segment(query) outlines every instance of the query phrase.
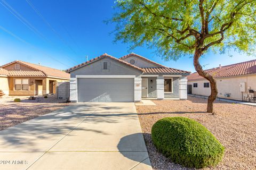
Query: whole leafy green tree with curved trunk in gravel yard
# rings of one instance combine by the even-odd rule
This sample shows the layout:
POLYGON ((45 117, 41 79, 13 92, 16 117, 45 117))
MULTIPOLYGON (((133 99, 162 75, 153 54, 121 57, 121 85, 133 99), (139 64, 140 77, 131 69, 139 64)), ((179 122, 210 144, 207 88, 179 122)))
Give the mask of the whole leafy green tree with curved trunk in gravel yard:
POLYGON ((199 58, 233 48, 247 55, 256 41, 256 0, 118 0, 111 22, 115 40, 147 45, 165 60, 194 54, 194 67, 210 81, 207 112, 213 113, 217 84, 199 58))

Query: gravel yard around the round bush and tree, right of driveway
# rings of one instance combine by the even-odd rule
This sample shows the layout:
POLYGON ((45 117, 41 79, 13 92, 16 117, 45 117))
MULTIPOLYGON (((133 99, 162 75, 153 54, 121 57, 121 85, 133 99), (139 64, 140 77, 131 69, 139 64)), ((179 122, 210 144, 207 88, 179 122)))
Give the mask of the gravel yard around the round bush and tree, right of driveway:
POLYGON ((151 141, 151 127, 161 118, 183 116, 203 124, 225 146, 217 167, 204 169, 256 169, 256 107, 216 101, 215 114, 205 113, 206 99, 152 100, 157 106, 136 106, 153 169, 188 169, 159 153, 151 141))

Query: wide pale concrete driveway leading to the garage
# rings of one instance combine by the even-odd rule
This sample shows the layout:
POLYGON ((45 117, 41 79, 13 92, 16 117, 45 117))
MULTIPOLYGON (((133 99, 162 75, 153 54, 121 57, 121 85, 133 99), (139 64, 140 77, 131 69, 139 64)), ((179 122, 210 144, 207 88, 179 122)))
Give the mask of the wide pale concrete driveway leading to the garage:
POLYGON ((134 103, 78 103, 0 132, 0 169, 152 169, 134 103))

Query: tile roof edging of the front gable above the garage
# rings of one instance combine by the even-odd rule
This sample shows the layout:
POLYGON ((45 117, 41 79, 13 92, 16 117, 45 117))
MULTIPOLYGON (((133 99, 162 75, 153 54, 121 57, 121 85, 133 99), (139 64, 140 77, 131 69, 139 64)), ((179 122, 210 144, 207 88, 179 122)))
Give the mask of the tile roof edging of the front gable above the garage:
POLYGON ((75 69, 78 69, 78 68, 81 67, 81 66, 90 64, 90 63, 92 63, 92 62, 95 62, 95 61, 100 60, 101 58, 105 58, 105 57, 111 58, 111 59, 113 59, 113 60, 115 60, 115 61, 117 61, 117 62, 126 64, 126 65, 129 65, 129 66, 133 67, 134 69, 143 71, 143 69, 141 69, 140 67, 137 67, 137 66, 135 66, 135 65, 132 65, 132 64, 130 64, 130 63, 127 63, 127 62, 125 62, 125 61, 123 61, 123 60, 119 60, 118 58, 113 57, 113 56, 108 55, 108 54, 105 53, 105 54, 102 54, 102 55, 99 56, 99 57, 93 58, 92 60, 89 60, 89 61, 87 61, 87 62, 78 64, 78 65, 76 65, 76 66, 74 66, 74 67, 71 67, 70 69, 67 69, 66 72, 70 73, 71 71, 73 71, 73 70, 75 70, 75 69))

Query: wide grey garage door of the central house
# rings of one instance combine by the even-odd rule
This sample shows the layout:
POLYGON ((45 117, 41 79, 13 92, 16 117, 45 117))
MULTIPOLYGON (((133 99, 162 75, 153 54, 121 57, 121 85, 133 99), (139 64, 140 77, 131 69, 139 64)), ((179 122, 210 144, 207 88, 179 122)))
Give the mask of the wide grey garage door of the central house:
POLYGON ((134 79, 78 78, 78 102, 134 101, 134 79))

